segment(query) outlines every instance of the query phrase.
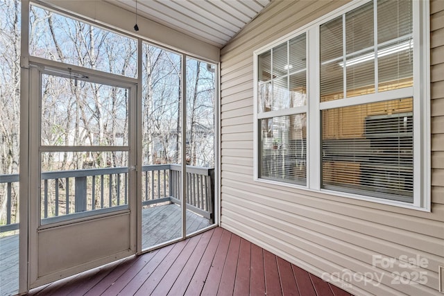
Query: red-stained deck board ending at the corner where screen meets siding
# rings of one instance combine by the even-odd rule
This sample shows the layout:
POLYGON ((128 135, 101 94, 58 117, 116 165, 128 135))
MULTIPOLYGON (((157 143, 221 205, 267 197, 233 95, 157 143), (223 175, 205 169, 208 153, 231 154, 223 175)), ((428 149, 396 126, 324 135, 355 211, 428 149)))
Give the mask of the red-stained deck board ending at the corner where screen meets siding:
POLYGON ((189 286, 185 291, 185 295, 200 295, 203 285, 205 284, 205 279, 207 279, 208 271, 210 270, 214 255, 216 254, 217 246, 219 245, 219 241, 221 241, 222 233, 223 229, 220 227, 214 230, 210 243, 208 243, 207 250, 205 250, 196 272, 194 272, 193 277, 191 277, 191 281, 189 282, 189 286))

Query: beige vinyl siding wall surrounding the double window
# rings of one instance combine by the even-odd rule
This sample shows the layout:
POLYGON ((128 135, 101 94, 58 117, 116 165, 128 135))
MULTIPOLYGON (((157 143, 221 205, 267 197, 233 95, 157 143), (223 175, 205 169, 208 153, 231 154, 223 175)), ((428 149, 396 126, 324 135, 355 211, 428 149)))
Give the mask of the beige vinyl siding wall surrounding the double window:
POLYGON ((273 1, 221 50, 221 226, 325 279, 347 270, 382 277, 342 286, 356 295, 442 295, 444 1, 430 4, 431 213, 253 180, 253 51, 346 2, 273 1), (373 255, 395 259, 393 268, 373 266, 373 255), (402 268, 402 255, 427 267, 402 268), (392 284, 404 271, 427 272, 427 284, 392 284))

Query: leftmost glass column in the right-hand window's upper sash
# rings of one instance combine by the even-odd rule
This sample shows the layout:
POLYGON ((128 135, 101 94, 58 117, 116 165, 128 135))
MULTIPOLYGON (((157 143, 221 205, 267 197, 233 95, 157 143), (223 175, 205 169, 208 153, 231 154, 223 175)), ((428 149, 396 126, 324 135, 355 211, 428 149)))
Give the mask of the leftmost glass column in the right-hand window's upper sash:
POLYGON ((321 102, 343 98, 343 18, 321 25, 321 102), (342 64, 342 66, 341 66, 342 64))

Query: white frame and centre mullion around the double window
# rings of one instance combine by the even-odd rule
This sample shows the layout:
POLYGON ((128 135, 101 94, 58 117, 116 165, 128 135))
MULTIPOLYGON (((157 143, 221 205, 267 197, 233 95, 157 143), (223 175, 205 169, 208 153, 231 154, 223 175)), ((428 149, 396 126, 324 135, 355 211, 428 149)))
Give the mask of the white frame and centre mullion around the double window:
MULTIPOLYGON (((347 98, 346 100, 320 102, 320 26, 327 21, 358 8, 372 0, 355 0, 345 4, 323 17, 298 28, 283 37, 257 49, 253 53, 253 162, 254 180, 266 184, 275 184, 304 191, 326 193, 328 195, 355 200, 366 200, 379 204, 388 204, 407 209, 430 211, 431 208, 431 157, 430 157, 430 40, 429 40, 429 1, 413 0, 413 87, 395 89, 364 96, 347 98), (302 33, 307 34, 307 186, 278 182, 259 178, 259 119, 264 115, 258 114, 258 56, 275 46, 287 42, 302 33), (419 44, 419 45, 418 45, 419 44), (321 110, 361 105, 377 101, 388 101, 391 98, 413 96, 413 203, 373 196, 345 193, 321 188, 321 110)), ((377 68, 376 70, 377 71, 377 68)), ((273 114, 273 116, 275 116, 273 114)), ((266 116, 268 117, 268 116, 266 116)))

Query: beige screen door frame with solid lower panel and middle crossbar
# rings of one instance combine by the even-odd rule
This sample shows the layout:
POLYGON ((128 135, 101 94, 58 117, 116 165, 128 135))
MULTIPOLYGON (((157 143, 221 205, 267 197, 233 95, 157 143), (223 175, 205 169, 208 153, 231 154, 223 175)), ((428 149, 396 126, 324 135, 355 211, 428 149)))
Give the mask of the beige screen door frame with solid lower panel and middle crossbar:
MULTIPOLYGON (((46 62, 46 64, 58 64, 46 62)), ((66 65, 64 67, 67 67, 66 65)), ((99 76, 80 74, 83 80, 103 85, 119 86, 128 89, 129 139, 128 146, 62 146, 54 150, 118 150, 128 151, 128 207, 42 225, 40 223, 41 172, 40 155, 48 148, 40 143, 40 106, 42 73, 73 78, 72 68, 54 69, 53 66, 31 64, 29 67, 29 125, 25 134, 29 135, 28 150, 28 287, 35 288, 62 277, 68 277, 84 270, 123 259, 136 253, 137 216, 137 155, 136 155, 136 96, 137 84, 110 80, 99 76), (85 78, 87 77, 87 78, 85 78), (80 235, 81 234, 81 235, 80 235), (80 239, 79 239, 80 238, 80 239), (82 239, 83 238, 83 239, 82 239), (78 250, 78 252, 76 252, 78 250), (88 250, 89 252, 85 252, 88 250)), ((77 76, 76 76, 77 77, 77 76)))

